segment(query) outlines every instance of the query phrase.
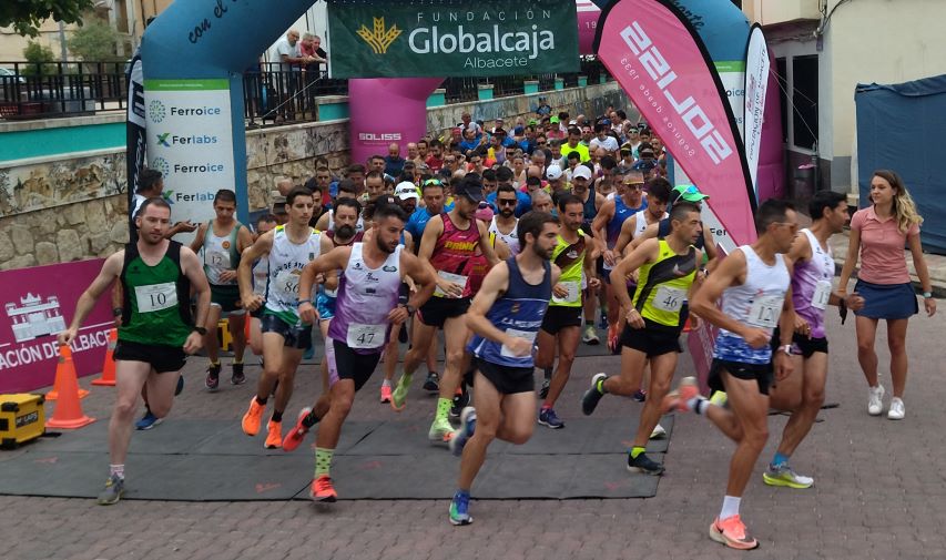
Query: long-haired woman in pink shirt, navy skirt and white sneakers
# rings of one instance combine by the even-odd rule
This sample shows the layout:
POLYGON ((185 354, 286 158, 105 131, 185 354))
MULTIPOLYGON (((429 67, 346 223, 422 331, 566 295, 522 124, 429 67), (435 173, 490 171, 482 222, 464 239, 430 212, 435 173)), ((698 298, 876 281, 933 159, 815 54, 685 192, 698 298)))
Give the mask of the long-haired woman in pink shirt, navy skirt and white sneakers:
POLYGON ((916 213, 916 205, 901 177, 892 171, 875 171, 871 179, 871 202, 872 206, 858 210, 851 220, 851 241, 841 271, 838 293, 842 296, 845 294, 859 256, 861 271, 854 291, 864 297, 864 308, 856 312, 857 360, 869 386, 867 414, 877 416, 884 409, 884 387, 877 379, 874 340, 877 322, 886 319, 891 378, 894 384, 887 418, 902 420, 905 415, 903 394, 907 371, 906 326, 909 317, 919 310, 903 255, 904 245, 909 246, 913 255, 928 316, 936 313, 936 301, 933 299, 929 271, 919 244, 923 217, 916 213))

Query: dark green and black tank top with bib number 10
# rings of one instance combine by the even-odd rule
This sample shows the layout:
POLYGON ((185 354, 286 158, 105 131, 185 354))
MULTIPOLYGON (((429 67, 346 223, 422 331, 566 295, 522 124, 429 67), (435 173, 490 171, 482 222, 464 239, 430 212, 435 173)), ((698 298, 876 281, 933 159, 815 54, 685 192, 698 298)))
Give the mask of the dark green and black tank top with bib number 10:
POLYGON ((138 244, 125 245, 121 275, 124 293, 119 340, 181 347, 193 330, 191 283, 181 271, 181 244, 170 242, 161 261, 149 266, 138 244))

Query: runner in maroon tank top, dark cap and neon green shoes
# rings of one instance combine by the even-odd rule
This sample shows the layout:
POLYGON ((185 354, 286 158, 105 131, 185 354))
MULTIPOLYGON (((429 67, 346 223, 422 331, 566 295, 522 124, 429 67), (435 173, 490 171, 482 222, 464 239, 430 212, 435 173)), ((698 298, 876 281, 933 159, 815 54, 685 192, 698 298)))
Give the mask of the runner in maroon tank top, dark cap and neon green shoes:
POLYGON ((440 398, 428 439, 447 441, 454 432, 449 413, 454 393, 459 387, 460 375, 465 369, 464 347, 468 329, 462 316, 470 305, 472 292, 468 277, 462 273, 479 247, 490 266, 497 264, 496 253, 489 244, 486 224, 474 217, 480 202, 482 189, 479 175, 470 174, 457 185, 456 204, 450 212, 434 216, 424 230, 420 241, 420 259, 437 271, 437 291, 420 308, 419 322, 415 323, 414 347, 404 358, 404 373, 391 396, 391 407, 401 410, 407 399, 407 389, 417 366, 427 356, 428 348, 421 344, 436 340, 437 328, 444 329, 447 346, 447 359, 444 377, 440 380, 440 398))

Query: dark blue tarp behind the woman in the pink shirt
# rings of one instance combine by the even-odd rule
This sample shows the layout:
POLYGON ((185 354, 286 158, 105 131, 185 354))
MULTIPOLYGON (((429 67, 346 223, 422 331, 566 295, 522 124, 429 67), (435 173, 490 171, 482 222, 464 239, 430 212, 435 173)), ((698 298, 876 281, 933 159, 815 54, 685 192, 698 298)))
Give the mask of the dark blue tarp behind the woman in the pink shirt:
POLYGON ((869 200, 874 170, 895 171, 924 217, 923 246, 946 254, 946 74, 893 85, 858 84, 857 185, 869 200))

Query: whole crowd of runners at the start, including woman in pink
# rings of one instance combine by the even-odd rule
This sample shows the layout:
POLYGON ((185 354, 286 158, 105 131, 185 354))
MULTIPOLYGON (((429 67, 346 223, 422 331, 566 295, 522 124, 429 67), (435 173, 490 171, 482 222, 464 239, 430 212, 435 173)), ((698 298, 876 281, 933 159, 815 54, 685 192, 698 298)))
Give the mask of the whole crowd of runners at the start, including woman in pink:
POLYGON ((246 381, 247 346, 263 365, 243 432, 262 438, 265 420, 263 445, 291 452, 313 431, 317 501, 337 499, 333 454, 355 394, 379 362, 384 380, 370 387, 395 411, 407 406, 426 364, 418 383, 437 394, 427 437, 461 457, 448 513, 458 526, 472 522, 470 489, 494 439, 523 444, 537 424, 566 427, 555 407, 579 345, 599 344, 599 322, 620 363, 572 381, 588 384, 582 413, 593 414, 609 394, 642 400, 627 466, 644 475, 664 471, 645 447, 664 437, 659 420, 669 411, 705 416, 731 438, 736 447, 710 536, 732 548, 757 546, 740 500, 767 439, 770 408, 791 418, 762 479, 798 489, 814 483, 790 458, 824 401, 828 306, 856 315, 871 415, 884 408, 874 338, 878 320, 887 322, 887 417, 905 417, 904 339, 918 312, 905 245, 927 314, 936 302, 919 248, 922 218, 896 174, 874 174, 871 204, 854 214, 848 257, 834 283, 828 238, 848 222, 843 194, 816 193, 803 230, 792 204, 762 202, 757 241, 723 258, 703 227, 709 196, 669 183, 660 138, 622 111, 571 119, 540 104, 533 120, 509 123, 509 132, 502 119, 492 124, 464 114, 443 138, 411 142, 404 155, 391 144, 387 155, 350 165, 344 177, 318 165, 305 184, 277 184, 272 213, 250 225, 234 216, 234 192, 221 190, 215 217, 199 225, 190 246, 172 237, 193 226, 172 226, 161 175, 145 171, 132 210, 135 240, 105 261, 60 335, 71 342, 116 281, 118 398, 99 502, 120 500, 133 428, 150 429, 169 414, 187 355, 205 348, 204 386, 220 389, 222 318, 233 339, 231 384, 246 381), (693 378, 671 390, 680 337, 700 322, 719 329, 711 393, 702 395, 693 378), (323 390, 284 420, 314 337, 324 340, 323 390), (398 376, 401 343, 409 349, 398 376), (545 374, 538 390, 537 367, 545 374), (139 395, 145 410, 135 422, 139 395))

